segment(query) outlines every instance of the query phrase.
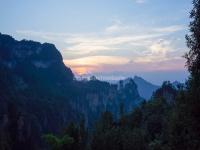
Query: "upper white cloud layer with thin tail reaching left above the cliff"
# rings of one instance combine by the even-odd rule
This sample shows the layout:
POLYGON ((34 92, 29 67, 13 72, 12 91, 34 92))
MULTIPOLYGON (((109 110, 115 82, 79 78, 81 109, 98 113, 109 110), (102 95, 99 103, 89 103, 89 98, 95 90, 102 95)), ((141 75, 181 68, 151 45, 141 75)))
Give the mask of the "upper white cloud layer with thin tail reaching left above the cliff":
MULTIPOLYGON (((102 33, 51 33, 18 30, 21 35, 40 37, 43 40, 59 43, 57 46, 69 57, 85 57, 86 54, 97 54, 100 51, 113 52, 128 48, 132 51, 140 48, 155 50, 160 44, 155 41, 164 36, 180 31, 182 26, 168 26, 159 28, 142 28, 124 25, 121 22, 108 26, 102 33), (74 55, 74 56, 73 56, 74 55)), ((126 49, 126 50, 128 50, 126 49)))

